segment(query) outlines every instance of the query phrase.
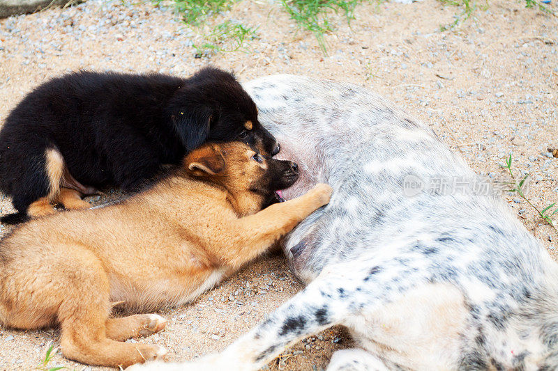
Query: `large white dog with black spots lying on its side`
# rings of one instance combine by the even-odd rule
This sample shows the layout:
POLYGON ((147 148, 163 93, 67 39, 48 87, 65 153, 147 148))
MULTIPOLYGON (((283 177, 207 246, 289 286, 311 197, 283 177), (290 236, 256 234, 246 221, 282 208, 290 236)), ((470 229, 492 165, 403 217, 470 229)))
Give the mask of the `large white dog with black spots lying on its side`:
POLYGON ((278 75, 246 90, 301 177, 331 184, 285 241, 308 286, 224 352, 146 370, 257 370, 334 324, 328 370, 557 370, 558 265, 428 126, 374 93, 278 75), (458 179, 460 189, 423 189, 458 179))

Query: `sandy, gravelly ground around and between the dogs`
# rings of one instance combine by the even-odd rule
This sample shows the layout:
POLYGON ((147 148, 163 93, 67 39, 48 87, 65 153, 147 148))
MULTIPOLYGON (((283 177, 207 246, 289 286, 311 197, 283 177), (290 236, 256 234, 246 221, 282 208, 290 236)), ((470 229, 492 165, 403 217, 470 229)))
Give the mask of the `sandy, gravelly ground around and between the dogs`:
MULTIPOLYGON (((551 8, 557 10, 553 1, 551 8)), ((326 36, 329 56, 314 36, 297 31, 276 4, 241 1, 210 22, 237 19, 257 26, 249 51, 194 58, 199 37, 172 10, 149 3, 90 0, 0 20, 0 125, 31 88, 70 70, 160 71, 187 75, 206 63, 234 70, 239 79, 278 72, 325 77, 382 93, 429 123, 441 139, 493 182, 508 181, 501 165, 511 152, 518 176, 529 173, 527 195, 538 207, 558 201, 558 18, 495 0, 455 31, 440 32, 456 8, 434 0, 401 5, 367 4, 349 26, 334 18, 326 36)), ((503 195, 513 212, 552 256, 558 235, 517 195, 503 195)), ((109 195, 109 198, 114 195, 109 195)), ((0 212, 12 211, 8 198, 0 212)), ((105 198, 90 198, 102 203, 105 198)), ((8 230, 0 226, 0 235, 8 230)), ((301 284, 279 255, 247 267, 190 306, 165 310, 166 331, 141 342, 169 349, 167 359, 191 359, 218 351, 246 332, 301 284)), ((85 288, 86 289, 86 288, 85 288)), ((0 370, 29 370, 57 345, 59 331, 0 328, 0 370)), ((276 359, 276 370, 325 368, 336 349, 350 347, 343 329, 299 342, 276 359)), ((52 365, 95 370, 56 352, 52 365)))

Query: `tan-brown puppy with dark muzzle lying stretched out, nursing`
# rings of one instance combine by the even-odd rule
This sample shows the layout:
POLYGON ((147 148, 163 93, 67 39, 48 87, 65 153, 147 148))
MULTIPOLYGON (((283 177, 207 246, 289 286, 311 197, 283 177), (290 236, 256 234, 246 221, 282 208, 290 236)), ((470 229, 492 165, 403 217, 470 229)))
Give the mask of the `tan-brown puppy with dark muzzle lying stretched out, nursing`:
POLYGON ((110 318, 111 301, 134 310, 193 301, 329 202, 331 187, 318 184, 262 210, 297 177, 296 164, 246 144, 208 144, 122 203, 29 221, 0 243, 0 324, 60 324, 63 354, 82 363, 164 356, 122 341, 161 331, 165 319, 110 318))

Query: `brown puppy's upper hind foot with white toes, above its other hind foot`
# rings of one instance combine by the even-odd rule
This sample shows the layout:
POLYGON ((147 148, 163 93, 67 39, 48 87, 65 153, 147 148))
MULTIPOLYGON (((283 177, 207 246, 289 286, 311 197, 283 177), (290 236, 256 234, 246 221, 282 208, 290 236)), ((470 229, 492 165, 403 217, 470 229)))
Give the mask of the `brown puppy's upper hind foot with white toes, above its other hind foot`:
POLYGON ((107 338, 124 341, 129 338, 140 336, 151 336, 165 329, 167 320, 160 315, 130 315, 122 318, 109 318, 105 323, 107 326, 107 338))

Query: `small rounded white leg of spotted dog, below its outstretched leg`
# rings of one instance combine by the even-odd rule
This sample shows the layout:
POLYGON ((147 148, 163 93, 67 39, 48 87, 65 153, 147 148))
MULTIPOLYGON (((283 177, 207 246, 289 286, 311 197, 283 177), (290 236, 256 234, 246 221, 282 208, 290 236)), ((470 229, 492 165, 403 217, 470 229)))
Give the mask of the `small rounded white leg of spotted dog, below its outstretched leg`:
POLYGON ((333 353, 326 371, 390 371, 373 354, 364 349, 342 349, 333 353))

